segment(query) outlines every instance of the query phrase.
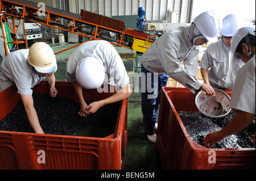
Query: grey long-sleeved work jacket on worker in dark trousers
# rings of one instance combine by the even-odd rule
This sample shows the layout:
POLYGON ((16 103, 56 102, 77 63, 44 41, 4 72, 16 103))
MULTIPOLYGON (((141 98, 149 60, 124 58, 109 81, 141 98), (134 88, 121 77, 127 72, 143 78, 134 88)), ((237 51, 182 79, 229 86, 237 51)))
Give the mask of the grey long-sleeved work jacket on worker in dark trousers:
POLYGON ((199 47, 188 37, 188 27, 178 27, 159 37, 142 55, 144 68, 152 73, 166 72, 193 93, 203 82, 196 78, 199 47), (184 68, 180 62, 184 60, 184 68))

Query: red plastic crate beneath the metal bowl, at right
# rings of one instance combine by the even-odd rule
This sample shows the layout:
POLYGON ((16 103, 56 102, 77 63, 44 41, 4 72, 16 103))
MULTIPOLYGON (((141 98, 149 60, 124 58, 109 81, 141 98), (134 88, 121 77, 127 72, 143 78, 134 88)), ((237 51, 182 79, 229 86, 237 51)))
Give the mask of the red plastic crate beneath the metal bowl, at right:
MULTIPOLYGON (((231 96, 232 90, 224 91, 231 96)), ((255 169, 255 149, 208 149, 191 140, 177 111, 199 112, 195 97, 187 88, 162 88, 156 137, 162 168, 255 169)))

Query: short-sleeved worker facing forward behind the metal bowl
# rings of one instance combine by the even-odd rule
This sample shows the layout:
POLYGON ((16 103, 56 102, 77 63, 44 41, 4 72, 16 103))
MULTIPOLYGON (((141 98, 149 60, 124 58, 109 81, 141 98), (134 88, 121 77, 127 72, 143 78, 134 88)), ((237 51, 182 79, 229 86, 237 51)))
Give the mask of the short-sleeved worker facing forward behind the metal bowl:
POLYGON ((230 46, 234 33, 241 28, 241 22, 237 15, 230 14, 225 16, 222 24, 221 39, 209 45, 199 66, 205 83, 216 89, 232 90, 237 71, 243 64, 234 64, 230 46))

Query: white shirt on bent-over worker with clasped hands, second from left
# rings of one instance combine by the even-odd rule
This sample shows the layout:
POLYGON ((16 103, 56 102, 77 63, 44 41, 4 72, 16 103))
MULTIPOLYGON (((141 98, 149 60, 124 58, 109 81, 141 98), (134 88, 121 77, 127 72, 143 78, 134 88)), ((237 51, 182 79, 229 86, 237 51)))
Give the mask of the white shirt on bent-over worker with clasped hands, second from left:
POLYGON ((105 68, 104 84, 110 83, 122 89, 129 83, 129 77, 123 65, 123 61, 117 50, 105 40, 93 40, 81 44, 69 57, 65 80, 68 82, 76 81, 76 67, 81 58, 96 56, 100 58, 105 68))

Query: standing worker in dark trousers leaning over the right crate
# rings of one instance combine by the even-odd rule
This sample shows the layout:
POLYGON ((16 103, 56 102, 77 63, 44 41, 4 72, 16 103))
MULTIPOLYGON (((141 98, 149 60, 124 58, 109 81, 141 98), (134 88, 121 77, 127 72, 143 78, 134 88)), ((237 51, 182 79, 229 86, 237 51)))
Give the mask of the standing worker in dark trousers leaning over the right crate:
MULTIPOLYGON (((217 40, 222 22, 214 12, 206 11, 197 16, 189 26, 178 27, 157 39, 142 55, 142 73, 146 75, 147 87, 142 87, 142 113, 148 140, 156 140, 156 113, 160 103, 161 87, 166 86, 168 76, 188 87, 193 93, 204 90, 214 94, 214 89, 196 78, 199 45, 217 40), (184 60, 184 61, 183 61, 184 60), (180 62, 184 62, 184 67, 180 62), (151 78, 147 78, 151 74, 151 78), (156 75, 156 78, 154 78, 156 75), (152 79, 152 81, 151 81, 152 79)), ((143 86, 143 82, 142 82, 143 86)))

